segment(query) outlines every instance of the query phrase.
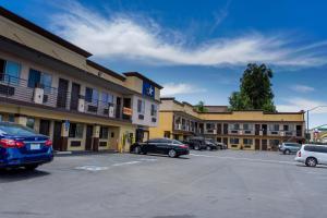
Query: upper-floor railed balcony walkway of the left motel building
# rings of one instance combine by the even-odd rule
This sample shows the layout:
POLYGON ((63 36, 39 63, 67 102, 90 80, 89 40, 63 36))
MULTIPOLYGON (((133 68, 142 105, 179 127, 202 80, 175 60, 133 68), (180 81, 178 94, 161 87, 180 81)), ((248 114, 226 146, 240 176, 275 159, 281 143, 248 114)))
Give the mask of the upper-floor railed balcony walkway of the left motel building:
MULTIPOLYGON (((68 112, 81 112, 109 119, 125 120, 122 109, 114 104, 100 100, 85 100, 84 96, 53 87, 36 85, 31 88, 27 81, 0 74, 0 98, 25 102, 27 106, 40 107, 68 112)), ((22 104, 23 105, 23 104, 22 104)))

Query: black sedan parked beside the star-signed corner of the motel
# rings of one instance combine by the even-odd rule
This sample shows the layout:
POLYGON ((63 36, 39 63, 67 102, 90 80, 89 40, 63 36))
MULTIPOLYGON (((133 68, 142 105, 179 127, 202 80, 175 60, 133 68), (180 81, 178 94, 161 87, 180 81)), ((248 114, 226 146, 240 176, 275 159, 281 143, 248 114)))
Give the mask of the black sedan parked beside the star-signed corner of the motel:
POLYGON ((134 143, 131 148, 131 153, 135 154, 162 154, 169 157, 179 157, 181 155, 189 155, 189 146, 170 138, 153 138, 145 143, 134 143))

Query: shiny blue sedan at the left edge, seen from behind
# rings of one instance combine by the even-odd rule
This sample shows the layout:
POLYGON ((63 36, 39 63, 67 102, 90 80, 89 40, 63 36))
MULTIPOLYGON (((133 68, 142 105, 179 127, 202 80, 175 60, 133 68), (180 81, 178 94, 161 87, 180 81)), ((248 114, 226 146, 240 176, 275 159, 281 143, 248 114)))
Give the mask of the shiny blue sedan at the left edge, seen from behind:
POLYGON ((34 170, 53 159, 52 143, 23 125, 0 122, 0 169, 34 170))

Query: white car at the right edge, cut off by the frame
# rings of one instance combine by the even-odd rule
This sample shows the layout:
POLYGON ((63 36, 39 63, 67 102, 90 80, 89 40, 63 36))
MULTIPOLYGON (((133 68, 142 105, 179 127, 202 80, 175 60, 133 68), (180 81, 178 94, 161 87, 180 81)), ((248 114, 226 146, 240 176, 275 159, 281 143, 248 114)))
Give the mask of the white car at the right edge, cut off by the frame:
POLYGON ((327 165, 327 146, 305 144, 296 153, 295 160, 303 162, 308 167, 316 167, 316 165, 327 165))

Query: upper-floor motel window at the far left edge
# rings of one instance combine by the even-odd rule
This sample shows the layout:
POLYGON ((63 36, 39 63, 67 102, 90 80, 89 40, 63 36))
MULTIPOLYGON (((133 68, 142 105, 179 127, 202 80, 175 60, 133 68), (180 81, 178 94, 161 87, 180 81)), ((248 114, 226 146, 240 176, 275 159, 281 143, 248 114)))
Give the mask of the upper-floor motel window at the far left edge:
POLYGON ((21 64, 0 59, 0 81, 17 85, 21 75, 21 64))

